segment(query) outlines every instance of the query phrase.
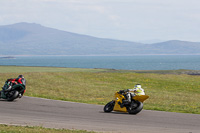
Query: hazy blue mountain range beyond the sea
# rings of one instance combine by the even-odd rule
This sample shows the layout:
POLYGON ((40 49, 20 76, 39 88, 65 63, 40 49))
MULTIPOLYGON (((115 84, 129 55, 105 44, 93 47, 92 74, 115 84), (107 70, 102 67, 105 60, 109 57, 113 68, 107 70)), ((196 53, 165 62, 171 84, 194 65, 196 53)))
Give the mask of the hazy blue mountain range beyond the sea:
POLYGON ((144 44, 81 35, 35 23, 0 26, 0 55, 200 54, 200 42, 144 44))

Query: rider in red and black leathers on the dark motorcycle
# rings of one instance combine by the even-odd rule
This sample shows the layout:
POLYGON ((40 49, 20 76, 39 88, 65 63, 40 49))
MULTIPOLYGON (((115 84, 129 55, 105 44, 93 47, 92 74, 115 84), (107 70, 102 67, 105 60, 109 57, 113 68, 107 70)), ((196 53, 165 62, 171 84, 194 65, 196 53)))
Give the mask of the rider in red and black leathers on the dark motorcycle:
MULTIPOLYGON (((9 91, 12 88, 21 87, 21 85, 24 88, 26 88, 26 80, 25 80, 23 75, 19 75, 17 78, 14 78, 14 79, 13 78, 7 79, 6 82, 7 83, 10 82, 10 85, 6 90, 3 89, 3 90, 0 91, 0 97, 3 97, 3 93, 2 93, 3 91, 9 91)), ((25 92, 25 90, 24 90, 24 92, 25 92)), ((22 95, 24 94, 24 92, 22 93, 22 95)), ((22 97, 22 95, 20 95, 19 98, 22 97)))

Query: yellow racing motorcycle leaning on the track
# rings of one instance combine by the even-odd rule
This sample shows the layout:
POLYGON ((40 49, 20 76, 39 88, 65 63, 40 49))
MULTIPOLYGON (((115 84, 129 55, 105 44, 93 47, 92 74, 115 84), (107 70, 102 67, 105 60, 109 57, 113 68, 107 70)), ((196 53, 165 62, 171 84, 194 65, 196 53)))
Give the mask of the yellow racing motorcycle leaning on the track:
POLYGON ((104 106, 104 112, 118 111, 137 114, 143 109, 143 102, 149 98, 148 95, 135 95, 131 102, 127 102, 126 93, 115 93, 115 99, 104 106))

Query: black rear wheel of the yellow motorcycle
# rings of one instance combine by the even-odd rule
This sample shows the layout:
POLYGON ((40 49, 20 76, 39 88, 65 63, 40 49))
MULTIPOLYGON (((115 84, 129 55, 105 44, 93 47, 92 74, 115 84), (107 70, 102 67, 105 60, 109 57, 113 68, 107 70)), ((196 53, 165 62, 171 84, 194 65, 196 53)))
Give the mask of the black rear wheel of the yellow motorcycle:
POLYGON ((139 101, 132 101, 131 105, 127 107, 129 114, 137 114, 143 109, 143 103, 139 101))

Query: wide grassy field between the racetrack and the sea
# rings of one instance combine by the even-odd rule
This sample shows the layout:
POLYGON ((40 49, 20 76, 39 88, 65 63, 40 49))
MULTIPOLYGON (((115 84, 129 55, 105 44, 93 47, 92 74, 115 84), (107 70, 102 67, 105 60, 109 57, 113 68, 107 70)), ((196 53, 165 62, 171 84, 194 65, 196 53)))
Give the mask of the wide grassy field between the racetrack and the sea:
POLYGON ((150 96, 144 109, 200 114, 200 76, 185 72, 0 66, 0 86, 23 74, 26 96, 104 105, 140 83, 150 96))

